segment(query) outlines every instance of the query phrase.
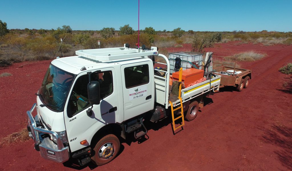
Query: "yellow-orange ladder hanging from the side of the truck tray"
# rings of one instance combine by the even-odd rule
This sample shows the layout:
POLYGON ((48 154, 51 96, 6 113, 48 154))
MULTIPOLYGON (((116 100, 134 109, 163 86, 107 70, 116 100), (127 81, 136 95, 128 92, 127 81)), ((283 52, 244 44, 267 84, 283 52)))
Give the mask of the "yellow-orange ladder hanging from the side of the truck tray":
POLYGON ((169 103, 171 104, 171 115, 172 115, 172 128, 173 131, 177 130, 178 128, 182 127, 185 125, 185 120, 184 120, 184 115, 183 115, 183 100, 181 98, 181 90, 182 90, 182 85, 181 85, 181 81, 182 81, 182 74, 183 74, 183 68, 180 68, 180 75, 178 78, 178 81, 180 82, 180 86, 179 86, 179 92, 178 92, 178 99, 180 100, 180 107, 173 109, 173 104, 171 101, 169 101, 169 103), (177 118, 174 118, 174 114, 173 112, 181 109, 181 113, 180 116, 178 116, 177 118), (182 118, 183 123, 181 125, 179 125, 178 127, 175 127, 175 121, 178 120, 179 118, 182 118))

